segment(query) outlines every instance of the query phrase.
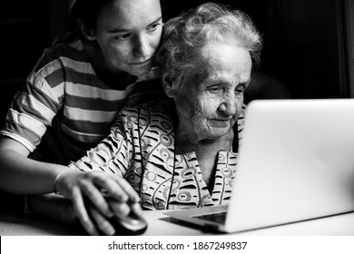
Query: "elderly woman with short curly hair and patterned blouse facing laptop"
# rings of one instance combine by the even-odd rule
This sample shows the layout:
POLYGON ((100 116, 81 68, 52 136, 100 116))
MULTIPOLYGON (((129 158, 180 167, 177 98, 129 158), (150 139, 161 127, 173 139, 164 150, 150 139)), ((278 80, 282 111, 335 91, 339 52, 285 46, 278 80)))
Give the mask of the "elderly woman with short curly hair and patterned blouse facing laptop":
POLYGON ((250 18, 222 5, 168 21, 157 57, 169 99, 123 108, 111 134, 70 167, 123 176, 147 210, 226 204, 260 51, 250 18))

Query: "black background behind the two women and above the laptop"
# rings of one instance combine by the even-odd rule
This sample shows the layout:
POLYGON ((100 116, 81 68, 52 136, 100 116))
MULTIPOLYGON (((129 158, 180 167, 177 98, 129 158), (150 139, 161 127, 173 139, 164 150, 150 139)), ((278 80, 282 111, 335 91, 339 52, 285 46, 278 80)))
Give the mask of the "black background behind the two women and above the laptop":
MULTIPOLYGON (((292 98, 350 97, 348 2, 351 0, 224 0, 261 30, 261 72, 278 79, 292 98)), ((3 1, 5 2, 5 1, 3 1)), ((162 0, 164 20, 205 1, 162 0), (184 2, 184 1, 183 1, 184 2)), ((0 117, 54 36, 64 31, 69 0, 0 4, 0 117)), ((353 93, 353 91, 351 92, 353 93)))

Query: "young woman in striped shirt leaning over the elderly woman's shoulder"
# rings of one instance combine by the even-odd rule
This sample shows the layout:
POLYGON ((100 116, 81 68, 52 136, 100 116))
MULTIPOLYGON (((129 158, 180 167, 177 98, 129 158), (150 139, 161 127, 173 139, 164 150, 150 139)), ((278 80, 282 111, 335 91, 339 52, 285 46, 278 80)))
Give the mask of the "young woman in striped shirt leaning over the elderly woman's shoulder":
POLYGON ((124 104, 149 99, 149 81, 159 74, 153 55, 161 34, 160 0, 74 1, 69 30, 44 50, 7 112, 0 189, 15 194, 60 190, 92 234, 84 196, 108 217, 113 211, 100 189, 120 200, 115 213, 129 209, 138 200, 135 191, 111 174, 75 174, 59 188, 55 182, 68 169, 64 165, 108 135, 124 104))

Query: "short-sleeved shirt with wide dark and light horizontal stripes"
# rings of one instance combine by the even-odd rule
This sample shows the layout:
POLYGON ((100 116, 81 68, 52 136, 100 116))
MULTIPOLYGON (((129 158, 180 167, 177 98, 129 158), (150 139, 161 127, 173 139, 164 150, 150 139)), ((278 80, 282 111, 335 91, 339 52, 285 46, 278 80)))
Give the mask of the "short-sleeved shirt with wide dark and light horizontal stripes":
POLYGON ((64 147, 86 151, 109 134, 124 104, 149 101, 146 94, 153 98, 156 91, 161 91, 157 68, 117 90, 96 76, 82 41, 57 44, 44 50, 15 94, 1 133, 34 151, 55 117, 64 147))

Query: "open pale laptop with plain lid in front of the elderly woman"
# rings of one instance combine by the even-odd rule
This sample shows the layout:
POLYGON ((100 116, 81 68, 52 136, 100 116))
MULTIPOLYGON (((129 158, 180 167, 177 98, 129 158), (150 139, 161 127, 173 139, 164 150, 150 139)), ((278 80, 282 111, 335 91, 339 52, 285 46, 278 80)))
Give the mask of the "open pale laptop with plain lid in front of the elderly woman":
POLYGON ((230 233, 354 211, 354 100, 252 101, 237 167, 229 205, 164 214, 230 233))

